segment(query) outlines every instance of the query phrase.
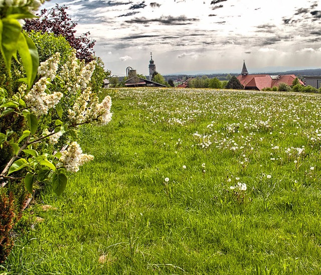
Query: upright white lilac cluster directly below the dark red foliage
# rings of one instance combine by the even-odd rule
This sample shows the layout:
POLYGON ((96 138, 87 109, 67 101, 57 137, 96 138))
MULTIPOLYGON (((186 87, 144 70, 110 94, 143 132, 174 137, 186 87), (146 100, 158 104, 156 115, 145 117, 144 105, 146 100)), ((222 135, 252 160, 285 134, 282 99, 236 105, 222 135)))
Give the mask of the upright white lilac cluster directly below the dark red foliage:
POLYGON ((85 90, 94 69, 94 61, 84 66, 84 62, 76 58, 76 50, 74 50, 69 60, 62 66, 60 72, 61 78, 65 81, 67 91, 71 94, 75 94, 85 90))

